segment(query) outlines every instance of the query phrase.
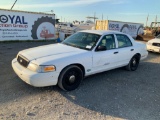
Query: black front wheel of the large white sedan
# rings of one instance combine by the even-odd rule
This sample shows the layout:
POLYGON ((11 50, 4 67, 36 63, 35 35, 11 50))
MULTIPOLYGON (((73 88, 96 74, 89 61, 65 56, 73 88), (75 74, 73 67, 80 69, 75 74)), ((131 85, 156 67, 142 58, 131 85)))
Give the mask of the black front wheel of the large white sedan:
POLYGON ((58 86, 65 91, 71 91, 78 88, 82 80, 82 70, 76 65, 71 65, 61 72, 58 79, 58 86))

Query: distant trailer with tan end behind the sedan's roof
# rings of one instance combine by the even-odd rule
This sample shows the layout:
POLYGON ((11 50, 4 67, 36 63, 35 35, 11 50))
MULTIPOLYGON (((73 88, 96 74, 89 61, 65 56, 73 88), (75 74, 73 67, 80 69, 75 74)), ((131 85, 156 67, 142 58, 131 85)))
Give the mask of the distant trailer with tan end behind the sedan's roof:
POLYGON ((121 22, 113 20, 97 20, 95 29, 120 31, 131 35, 133 38, 136 38, 137 35, 144 34, 142 23, 121 22))

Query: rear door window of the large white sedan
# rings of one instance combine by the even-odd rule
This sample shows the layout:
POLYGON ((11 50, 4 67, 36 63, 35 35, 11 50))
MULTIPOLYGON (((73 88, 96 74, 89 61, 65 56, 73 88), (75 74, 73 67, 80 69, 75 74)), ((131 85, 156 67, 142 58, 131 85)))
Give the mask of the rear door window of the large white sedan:
POLYGON ((132 46, 131 40, 126 35, 116 34, 118 40, 118 48, 132 46))

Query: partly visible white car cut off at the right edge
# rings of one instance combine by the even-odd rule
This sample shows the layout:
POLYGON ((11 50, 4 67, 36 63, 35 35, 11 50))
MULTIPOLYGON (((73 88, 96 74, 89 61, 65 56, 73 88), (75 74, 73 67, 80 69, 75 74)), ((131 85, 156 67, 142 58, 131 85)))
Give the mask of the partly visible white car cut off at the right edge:
POLYGON ((160 35, 147 42, 147 50, 160 53, 160 35))

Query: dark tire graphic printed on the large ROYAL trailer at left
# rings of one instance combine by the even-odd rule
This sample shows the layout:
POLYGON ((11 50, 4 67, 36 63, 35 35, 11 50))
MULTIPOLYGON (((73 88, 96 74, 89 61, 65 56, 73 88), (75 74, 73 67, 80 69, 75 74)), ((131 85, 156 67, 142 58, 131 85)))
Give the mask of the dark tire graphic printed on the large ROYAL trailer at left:
POLYGON ((38 18, 37 21, 34 22, 34 25, 32 25, 32 30, 31 30, 31 37, 33 39, 38 39, 37 37, 37 29, 39 27, 39 25, 43 22, 49 22, 51 23, 53 26, 55 26, 55 19, 52 19, 52 17, 42 17, 42 18, 38 18))

